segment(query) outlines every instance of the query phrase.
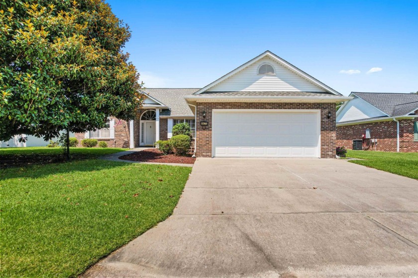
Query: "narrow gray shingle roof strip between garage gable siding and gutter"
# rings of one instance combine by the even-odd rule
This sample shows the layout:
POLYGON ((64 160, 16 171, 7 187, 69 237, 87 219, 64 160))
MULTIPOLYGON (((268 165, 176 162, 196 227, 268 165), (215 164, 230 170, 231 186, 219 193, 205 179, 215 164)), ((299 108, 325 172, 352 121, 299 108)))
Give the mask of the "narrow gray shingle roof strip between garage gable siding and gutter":
MULTIPOLYGON (((216 96, 338 96, 326 92, 203 92, 200 95, 216 95, 216 96)), ((344 97, 341 95, 341 97, 344 97)))

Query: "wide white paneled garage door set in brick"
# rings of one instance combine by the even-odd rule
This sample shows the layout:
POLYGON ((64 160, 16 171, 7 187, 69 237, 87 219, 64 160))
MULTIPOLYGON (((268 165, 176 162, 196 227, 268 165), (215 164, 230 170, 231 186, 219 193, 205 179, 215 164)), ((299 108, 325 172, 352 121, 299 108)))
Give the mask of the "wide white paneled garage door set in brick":
POLYGON ((320 113, 213 110, 216 157, 320 157, 320 113))

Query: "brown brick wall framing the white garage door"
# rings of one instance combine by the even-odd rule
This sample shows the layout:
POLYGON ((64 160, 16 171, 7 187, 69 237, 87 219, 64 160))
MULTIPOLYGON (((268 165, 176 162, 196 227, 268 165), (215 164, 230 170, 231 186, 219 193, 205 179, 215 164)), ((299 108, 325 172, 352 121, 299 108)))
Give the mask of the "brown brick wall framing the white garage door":
POLYGON ((320 109, 321 110, 321 158, 335 158, 335 103, 197 103, 197 156, 212 155, 212 109, 320 109), (202 112, 206 111, 206 118, 202 112), (327 119, 328 111, 331 118, 327 119), (208 121, 204 130, 199 124, 208 121))

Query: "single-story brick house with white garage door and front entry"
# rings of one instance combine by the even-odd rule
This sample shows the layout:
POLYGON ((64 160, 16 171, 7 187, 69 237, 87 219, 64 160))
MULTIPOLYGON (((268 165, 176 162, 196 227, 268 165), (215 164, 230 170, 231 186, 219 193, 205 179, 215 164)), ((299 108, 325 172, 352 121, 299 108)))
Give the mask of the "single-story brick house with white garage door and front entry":
POLYGON ((198 157, 335 157, 335 107, 346 97, 266 51, 204 88, 147 88, 138 119, 77 134, 109 146, 170 139, 190 124, 198 157))

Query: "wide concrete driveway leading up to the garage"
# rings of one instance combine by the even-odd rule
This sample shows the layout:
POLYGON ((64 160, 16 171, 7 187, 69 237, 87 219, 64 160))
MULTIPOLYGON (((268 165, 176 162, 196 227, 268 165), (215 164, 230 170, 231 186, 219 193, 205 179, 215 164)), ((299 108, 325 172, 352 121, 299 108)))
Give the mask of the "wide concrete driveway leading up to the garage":
POLYGON ((93 277, 417 277, 418 181, 335 159, 200 158, 93 277))

